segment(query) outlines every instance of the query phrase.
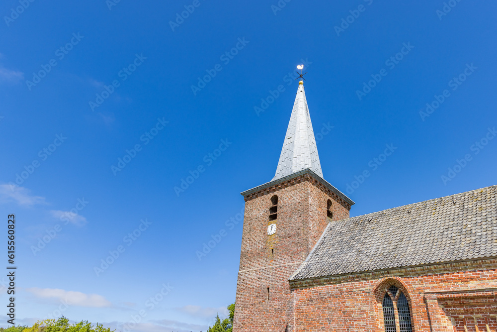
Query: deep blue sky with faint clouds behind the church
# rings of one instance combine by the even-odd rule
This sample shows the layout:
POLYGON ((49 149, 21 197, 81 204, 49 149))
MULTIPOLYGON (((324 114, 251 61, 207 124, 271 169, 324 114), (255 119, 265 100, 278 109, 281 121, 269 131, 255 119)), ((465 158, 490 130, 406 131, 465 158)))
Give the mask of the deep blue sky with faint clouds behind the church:
POLYGON ((301 63, 323 174, 356 202, 351 216, 495 185, 496 11, 3 1, 0 216, 4 234, 16 216, 16 322, 61 310, 119 331, 132 317, 130 331, 205 331, 224 315, 240 192, 274 176, 301 63))

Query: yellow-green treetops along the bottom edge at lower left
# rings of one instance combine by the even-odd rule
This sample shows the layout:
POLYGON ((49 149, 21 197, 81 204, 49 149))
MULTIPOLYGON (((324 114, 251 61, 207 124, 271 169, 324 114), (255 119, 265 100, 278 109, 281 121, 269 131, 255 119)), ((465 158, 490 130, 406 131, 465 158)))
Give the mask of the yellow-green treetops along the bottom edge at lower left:
MULTIPOLYGON (((12 328, 9 328, 12 329, 12 328)), ((69 320, 62 316, 57 320, 44 320, 36 322, 32 327, 25 328, 17 331, 12 330, 5 332, 114 332, 110 328, 104 329, 102 324, 96 324, 95 327, 88 323, 88 321, 81 321, 80 323, 70 324, 69 320)), ((3 331, 0 331, 3 332, 3 331)))

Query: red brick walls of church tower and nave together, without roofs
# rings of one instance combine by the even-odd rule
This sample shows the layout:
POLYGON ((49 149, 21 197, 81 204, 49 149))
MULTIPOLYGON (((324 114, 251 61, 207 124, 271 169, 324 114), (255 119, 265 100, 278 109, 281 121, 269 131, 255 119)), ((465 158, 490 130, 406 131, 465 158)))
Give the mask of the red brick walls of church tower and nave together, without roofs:
POLYGON ((329 199, 331 222, 348 218, 350 206, 310 174, 245 196, 234 332, 385 331, 382 300, 391 285, 406 296, 415 332, 497 332, 496 259, 290 283, 329 222, 329 199), (278 215, 269 221, 273 195, 278 215), (267 235, 271 223, 276 233, 267 235))

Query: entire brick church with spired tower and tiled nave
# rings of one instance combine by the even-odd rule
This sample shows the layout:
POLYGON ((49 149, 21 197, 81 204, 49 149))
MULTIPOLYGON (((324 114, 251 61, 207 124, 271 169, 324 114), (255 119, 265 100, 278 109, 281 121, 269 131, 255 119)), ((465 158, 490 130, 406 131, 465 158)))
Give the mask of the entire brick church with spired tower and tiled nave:
POLYGON ((234 332, 497 332, 497 186, 350 218, 303 81, 276 175, 242 195, 234 332))

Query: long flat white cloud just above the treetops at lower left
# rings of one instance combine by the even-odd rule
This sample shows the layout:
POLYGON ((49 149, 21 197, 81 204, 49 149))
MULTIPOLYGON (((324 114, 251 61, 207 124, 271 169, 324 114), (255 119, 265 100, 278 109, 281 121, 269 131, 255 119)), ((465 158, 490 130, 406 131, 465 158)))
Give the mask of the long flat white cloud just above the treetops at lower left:
POLYGON ((112 303, 97 294, 84 294, 81 292, 65 291, 53 288, 27 288, 28 292, 41 299, 57 299, 67 301, 70 306, 103 308, 111 307, 112 303))

